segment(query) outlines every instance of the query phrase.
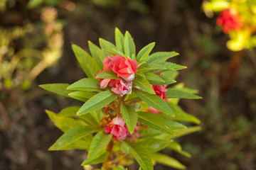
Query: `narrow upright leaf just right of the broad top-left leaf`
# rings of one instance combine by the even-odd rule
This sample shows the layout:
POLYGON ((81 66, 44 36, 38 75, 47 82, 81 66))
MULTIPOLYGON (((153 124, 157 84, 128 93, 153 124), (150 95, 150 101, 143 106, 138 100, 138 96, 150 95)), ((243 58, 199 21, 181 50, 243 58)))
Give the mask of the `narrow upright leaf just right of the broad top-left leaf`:
POLYGON ((100 67, 100 69, 103 69, 103 60, 105 60, 105 54, 104 51, 100 49, 97 45, 94 43, 88 41, 89 49, 92 54, 92 57, 94 58, 97 65, 100 67))

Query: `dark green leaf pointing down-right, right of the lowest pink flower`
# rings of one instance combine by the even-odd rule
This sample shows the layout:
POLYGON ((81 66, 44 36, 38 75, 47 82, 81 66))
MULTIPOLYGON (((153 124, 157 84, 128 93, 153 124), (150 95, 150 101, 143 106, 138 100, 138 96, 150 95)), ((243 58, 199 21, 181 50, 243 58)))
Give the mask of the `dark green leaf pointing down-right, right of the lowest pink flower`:
POLYGON ((148 112, 137 113, 139 116, 138 120, 140 125, 174 135, 174 129, 168 123, 166 123, 166 121, 162 119, 160 115, 148 112))

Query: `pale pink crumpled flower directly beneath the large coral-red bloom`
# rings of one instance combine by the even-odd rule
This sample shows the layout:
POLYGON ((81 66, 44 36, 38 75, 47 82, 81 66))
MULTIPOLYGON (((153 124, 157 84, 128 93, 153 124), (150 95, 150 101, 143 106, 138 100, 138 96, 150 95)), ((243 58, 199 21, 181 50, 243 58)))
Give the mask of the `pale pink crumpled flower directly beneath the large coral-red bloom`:
POLYGON ((132 93, 132 82, 125 82, 122 79, 112 79, 109 84, 110 86, 112 86, 111 91, 114 94, 122 96, 124 94, 132 93))

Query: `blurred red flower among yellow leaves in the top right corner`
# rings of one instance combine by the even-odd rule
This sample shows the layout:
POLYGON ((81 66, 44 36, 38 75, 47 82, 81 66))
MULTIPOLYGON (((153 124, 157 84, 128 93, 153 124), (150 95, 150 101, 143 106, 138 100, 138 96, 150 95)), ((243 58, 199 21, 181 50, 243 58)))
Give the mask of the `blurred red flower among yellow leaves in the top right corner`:
POLYGON ((222 26, 224 33, 229 33, 230 30, 239 30, 242 27, 241 18, 234 9, 222 11, 216 23, 218 26, 222 26))

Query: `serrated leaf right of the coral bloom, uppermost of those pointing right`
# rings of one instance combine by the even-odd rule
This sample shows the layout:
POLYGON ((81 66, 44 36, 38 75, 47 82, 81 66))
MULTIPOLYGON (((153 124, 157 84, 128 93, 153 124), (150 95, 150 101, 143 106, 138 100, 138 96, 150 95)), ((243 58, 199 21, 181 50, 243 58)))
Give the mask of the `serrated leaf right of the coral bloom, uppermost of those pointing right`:
POLYGON ((165 62, 171 57, 178 55, 177 52, 155 52, 149 56, 149 60, 147 60, 147 64, 149 63, 157 63, 157 62, 165 62))

